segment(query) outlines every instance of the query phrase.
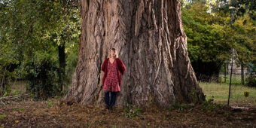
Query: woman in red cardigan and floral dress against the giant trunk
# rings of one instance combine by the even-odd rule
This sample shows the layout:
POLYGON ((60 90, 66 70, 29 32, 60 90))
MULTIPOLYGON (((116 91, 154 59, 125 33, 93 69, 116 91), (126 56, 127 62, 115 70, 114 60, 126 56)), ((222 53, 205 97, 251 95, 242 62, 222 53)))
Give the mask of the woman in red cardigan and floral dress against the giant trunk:
POLYGON ((115 99, 116 92, 120 92, 122 75, 126 68, 121 59, 118 58, 117 50, 112 48, 108 59, 105 59, 102 65, 102 71, 104 72, 102 84, 105 92, 105 109, 112 109, 115 99), (111 98, 109 101, 109 93, 111 98))

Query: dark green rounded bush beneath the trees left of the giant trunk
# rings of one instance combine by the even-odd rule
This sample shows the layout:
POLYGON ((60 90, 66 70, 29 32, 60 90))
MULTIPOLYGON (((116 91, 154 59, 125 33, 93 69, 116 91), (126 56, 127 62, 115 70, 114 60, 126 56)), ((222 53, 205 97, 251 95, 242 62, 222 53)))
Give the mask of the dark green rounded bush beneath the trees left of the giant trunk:
POLYGON ((36 99, 47 99, 60 93, 58 59, 49 53, 35 53, 33 59, 23 61, 27 90, 36 99))

